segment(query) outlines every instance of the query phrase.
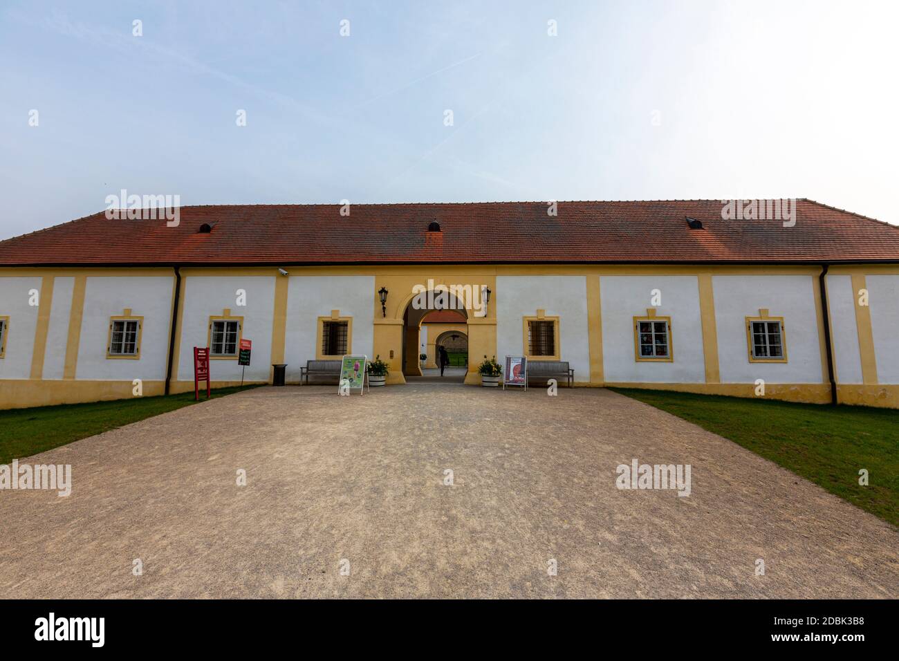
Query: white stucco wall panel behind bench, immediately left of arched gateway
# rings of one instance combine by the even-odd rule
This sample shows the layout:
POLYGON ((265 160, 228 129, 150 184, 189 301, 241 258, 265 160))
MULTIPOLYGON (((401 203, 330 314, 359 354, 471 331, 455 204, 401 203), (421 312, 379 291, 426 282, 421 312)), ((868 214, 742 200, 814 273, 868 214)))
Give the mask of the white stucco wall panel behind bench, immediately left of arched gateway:
MULTIPOLYGON (((286 379, 299 380, 299 368, 316 359, 318 317, 352 317, 352 353, 373 359, 375 278, 370 275, 290 276, 284 362, 286 379)), ((387 356, 382 356, 387 360, 387 356)))

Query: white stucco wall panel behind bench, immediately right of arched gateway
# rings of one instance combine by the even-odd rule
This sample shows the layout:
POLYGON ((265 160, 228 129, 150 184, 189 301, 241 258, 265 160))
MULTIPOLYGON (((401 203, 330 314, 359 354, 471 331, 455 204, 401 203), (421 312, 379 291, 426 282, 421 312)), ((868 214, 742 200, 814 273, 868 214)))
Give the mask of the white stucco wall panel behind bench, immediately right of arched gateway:
MULTIPOLYGON (((521 355, 522 317, 533 317, 543 309, 547 317, 559 317, 560 358, 574 368, 574 380, 590 380, 587 279, 583 275, 497 276, 495 300, 498 362, 503 363, 506 355, 521 355)), ((475 363, 481 360, 474 357, 475 363)))

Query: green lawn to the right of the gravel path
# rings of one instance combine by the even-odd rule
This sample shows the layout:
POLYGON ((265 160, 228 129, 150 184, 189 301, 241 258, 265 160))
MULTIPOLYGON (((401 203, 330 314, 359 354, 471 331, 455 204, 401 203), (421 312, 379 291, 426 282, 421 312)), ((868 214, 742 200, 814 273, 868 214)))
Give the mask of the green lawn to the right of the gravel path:
POLYGON ((899 411, 613 389, 698 424, 899 525, 899 411), (868 487, 859 486, 868 469, 868 487))

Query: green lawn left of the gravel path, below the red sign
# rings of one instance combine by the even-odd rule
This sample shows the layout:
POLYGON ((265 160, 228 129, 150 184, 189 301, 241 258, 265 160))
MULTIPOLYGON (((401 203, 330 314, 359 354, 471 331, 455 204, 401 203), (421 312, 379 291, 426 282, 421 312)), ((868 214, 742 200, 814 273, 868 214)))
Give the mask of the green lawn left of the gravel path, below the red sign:
MULTIPOLYGON (((250 388, 256 386, 216 389, 212 391, 212 397, 224 397, 250 388)), ((202 393, 200 401, 205 401, 202 393)), ((194 404, 193 393, 185 392, 168 397, 135 397, 0 411, 0 464, 191 404, 194 404)))

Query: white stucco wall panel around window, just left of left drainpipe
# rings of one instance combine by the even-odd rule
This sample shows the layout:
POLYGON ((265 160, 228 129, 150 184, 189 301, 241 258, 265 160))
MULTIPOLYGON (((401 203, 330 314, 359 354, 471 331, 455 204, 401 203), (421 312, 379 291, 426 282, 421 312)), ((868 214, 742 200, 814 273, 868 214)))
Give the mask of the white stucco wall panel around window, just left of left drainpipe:
POLYGON ((87 278, 76 379, 165 380, 173 281, 172 276, 87 278), (144 317, 140 358, 107 358, 110 317, 120 317, 125 308, 144 317))

